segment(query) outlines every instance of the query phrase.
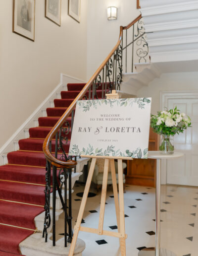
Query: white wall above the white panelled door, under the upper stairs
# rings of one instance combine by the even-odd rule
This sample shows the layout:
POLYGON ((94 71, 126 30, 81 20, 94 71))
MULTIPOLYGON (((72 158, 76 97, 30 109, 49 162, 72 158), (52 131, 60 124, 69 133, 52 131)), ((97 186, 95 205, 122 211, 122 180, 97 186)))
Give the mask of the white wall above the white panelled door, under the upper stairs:
POLYGON ((198 91, 198 72, 163 73, 142 87, 137 97, 152 97, 152 114, 160 110, 160 91, 198 91))

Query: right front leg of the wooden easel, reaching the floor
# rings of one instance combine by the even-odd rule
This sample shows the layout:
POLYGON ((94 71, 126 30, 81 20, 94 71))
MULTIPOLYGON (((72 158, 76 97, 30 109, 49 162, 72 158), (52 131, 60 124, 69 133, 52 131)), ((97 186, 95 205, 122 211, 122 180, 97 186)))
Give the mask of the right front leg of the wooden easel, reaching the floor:
POLYGON ((120 202, 120 233, 122 235, 122 238, 120 238, 120 250, 121 256, 126 256, 122 159, 118 159, 118 186, 120 202))

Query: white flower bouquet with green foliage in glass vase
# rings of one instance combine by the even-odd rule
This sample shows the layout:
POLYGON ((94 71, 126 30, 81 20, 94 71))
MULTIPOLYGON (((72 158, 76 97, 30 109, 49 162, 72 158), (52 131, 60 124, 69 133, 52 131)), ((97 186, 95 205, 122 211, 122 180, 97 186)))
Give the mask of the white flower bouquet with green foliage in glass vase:
POLYGON ((150 126, 154 132, 163 136, 159 150, 164 154, 172 154, 174 146, 170 142, 170 136, 184 132, 185 129, 191 127, 191 119, 175 107, 175 109, 158 111, 157 115, 151 115, 150 126))

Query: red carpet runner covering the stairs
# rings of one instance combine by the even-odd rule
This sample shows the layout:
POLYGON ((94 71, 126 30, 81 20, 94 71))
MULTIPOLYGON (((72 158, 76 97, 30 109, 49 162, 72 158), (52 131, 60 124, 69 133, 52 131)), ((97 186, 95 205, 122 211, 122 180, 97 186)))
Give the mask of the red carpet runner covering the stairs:
MULTIPOLYGON (((85 83, 67 84, 68 91, 61 92, 62 99, 54 100, 54 108, 47 109, 48 116, 39 118, 39 127, 30 128, 30 137, 19 140, 20 150, 9 152, 8 164, 0 166, 0 256, 20 255, 20 242, 34 233, 34 219, 44 211, 45 204, 44 139, 84 86, 85 83)), ((101 90, 97 95, 102 96, 101 90)), ((71 123, 71 118, 68 121, 71 123)), ((52 152, 54 149, 52 140, 52 152)), ((68 152, 69 141, 64 149, 68 152)))

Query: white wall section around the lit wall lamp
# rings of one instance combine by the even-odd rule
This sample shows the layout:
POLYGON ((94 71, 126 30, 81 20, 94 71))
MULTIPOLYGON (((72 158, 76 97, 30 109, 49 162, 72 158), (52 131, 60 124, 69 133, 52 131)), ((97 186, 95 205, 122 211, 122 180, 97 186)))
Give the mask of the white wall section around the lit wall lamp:
POLYGON ((126 26, 138 15, 136 0, 88 0, 88 79, 117 43, 120 26, 126 26), (117 20, 107 20, 108 6, 118 8, 117 20))

